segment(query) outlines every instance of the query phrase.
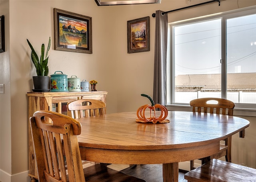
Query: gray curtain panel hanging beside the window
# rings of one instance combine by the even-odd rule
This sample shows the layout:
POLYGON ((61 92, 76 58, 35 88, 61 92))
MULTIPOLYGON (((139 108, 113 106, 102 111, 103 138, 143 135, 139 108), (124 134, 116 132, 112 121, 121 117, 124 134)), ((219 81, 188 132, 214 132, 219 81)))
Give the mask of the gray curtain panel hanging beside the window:
POLYGON ((156 104, 166 104, 166 54, 168 34, 168 14, 156 11, 154 90, 153 100, 156 104))

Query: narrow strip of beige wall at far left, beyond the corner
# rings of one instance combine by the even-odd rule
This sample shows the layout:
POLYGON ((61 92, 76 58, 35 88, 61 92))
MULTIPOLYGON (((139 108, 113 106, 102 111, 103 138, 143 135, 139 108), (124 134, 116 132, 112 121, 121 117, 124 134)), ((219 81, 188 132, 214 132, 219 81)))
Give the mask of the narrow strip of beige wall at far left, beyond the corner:
MULTIPOLYGON (((0 83, 4 94, 0 94, 0 170, 11 173, 11 116, 10 116, 10 47, 9 47, 9 2, 0 1, 0 16, 5 19, 5 52, 0 54, 0 83), (7 28, 6 28, 7 27, 7 28)), ((26 144, 27 145, 27 144, 26 144)), ((1 181, 1 171, 0 171, 1 181)), ((4 182, 2 180, 2 182, 4 182)))

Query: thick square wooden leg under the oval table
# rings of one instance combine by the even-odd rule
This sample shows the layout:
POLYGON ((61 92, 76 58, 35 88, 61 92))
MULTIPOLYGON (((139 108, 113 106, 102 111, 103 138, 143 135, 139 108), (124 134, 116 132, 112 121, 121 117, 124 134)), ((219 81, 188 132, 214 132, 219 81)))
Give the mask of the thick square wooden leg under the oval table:
POLYGON ((178 182, 179 165, 178 162, 163 164, 164 182, 178 182))

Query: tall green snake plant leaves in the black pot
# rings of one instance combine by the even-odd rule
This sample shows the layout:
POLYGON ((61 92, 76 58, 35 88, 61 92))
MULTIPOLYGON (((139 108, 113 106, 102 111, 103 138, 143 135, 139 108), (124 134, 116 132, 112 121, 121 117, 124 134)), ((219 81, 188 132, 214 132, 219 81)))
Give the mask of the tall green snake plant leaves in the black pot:
MULTIPOLYGON (((28 41, 28 39, 27 39, 28 41)), ((51 45, 51 37, 49 37, 49 42, 48 42, 48 47, 47 47, 47 51, 46 51, 46 59, 44 59, 44 44, 42 44, 41 47, 41 56, 40 56, 40 60, 38 58, 38 55, 36 54, 36 51, 34 50, 33 46, 31 45, 30 41, 28 41, 28 45, 30 47, 30 49, 32 50, 31 52, 31 59, 32 62, 34 63, 34 66, 36 67, 36 74, 37 76, 48 76, 49 70, 48 70, 48 51, 50 49, 50 45, 51 45)))

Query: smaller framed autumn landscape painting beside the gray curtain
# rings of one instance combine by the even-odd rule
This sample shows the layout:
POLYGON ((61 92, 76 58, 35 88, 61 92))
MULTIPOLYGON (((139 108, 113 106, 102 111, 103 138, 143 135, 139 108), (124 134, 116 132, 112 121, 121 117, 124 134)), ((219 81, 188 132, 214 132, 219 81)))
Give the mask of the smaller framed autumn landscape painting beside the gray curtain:
POLYGON ((127 52, 150 51, 149 16, 127 21, 127 52))

